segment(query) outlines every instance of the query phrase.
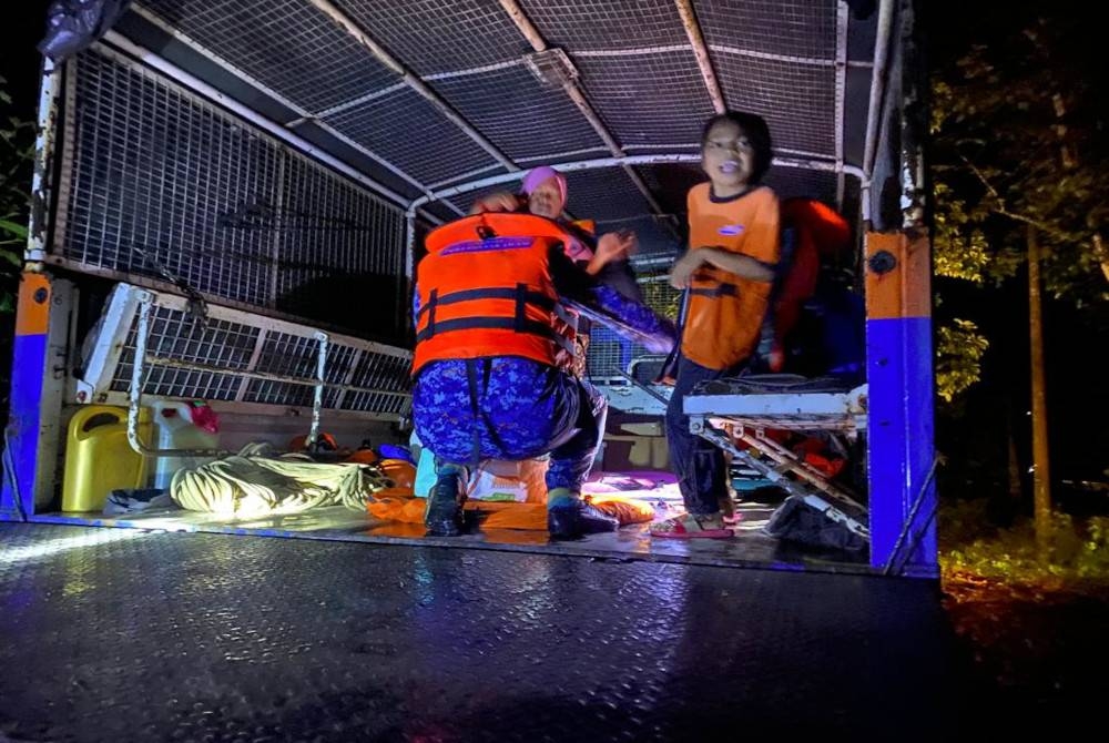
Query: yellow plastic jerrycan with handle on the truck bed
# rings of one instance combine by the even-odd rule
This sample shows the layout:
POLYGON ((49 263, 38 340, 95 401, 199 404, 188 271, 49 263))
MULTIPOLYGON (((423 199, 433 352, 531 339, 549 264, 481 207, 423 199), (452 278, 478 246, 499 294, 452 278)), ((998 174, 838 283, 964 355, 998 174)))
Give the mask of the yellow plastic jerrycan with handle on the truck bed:
MULTIPOLYGON (((150 441, 150 408, 139 409, 139 440, 150 441)), ((63 511, 102 511, 112 490, 146 487, 146 458, 128 444, 128 409, 87 405, 69 425, 63 511)))

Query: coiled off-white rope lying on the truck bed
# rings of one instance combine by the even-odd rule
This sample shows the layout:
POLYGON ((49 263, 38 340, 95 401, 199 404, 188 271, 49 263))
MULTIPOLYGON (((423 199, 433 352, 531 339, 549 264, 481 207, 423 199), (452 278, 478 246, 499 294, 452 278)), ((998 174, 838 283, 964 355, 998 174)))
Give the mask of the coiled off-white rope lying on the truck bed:
POLYGON ((278 516, 339 503, 365 511, 374 492, 390 487, 376 465, 324 464, 301 454, 275 457, 269 445, 250 444, 237 455, 177 470, 170 497, 191 511, 278 516))

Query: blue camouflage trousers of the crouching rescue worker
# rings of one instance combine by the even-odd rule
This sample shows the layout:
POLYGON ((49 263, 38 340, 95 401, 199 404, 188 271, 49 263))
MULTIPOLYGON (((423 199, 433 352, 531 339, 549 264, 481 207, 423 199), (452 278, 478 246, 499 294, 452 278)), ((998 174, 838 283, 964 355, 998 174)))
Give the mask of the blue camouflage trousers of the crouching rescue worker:
POLYGON ((413 388, 416 434, 442 465, 550 455, 547 488, 580 492, 607 401, 582 379, 518 357, 434 362, 413 388))

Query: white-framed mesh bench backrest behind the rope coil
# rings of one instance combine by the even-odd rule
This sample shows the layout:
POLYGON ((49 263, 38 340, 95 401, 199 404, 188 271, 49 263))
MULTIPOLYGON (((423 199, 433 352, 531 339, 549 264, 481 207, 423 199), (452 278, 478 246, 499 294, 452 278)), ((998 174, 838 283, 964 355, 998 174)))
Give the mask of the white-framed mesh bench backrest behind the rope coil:
MULTIPOLYGON (((89 347, 118 344, 104 366, 90 366, 79 386, 83 399, 125 401, 134 369, 139 302, 146 294, 118 284, 89 347), (111 307, 112 309, 109 309, 111 307), (121 309, 122 308, 122 309, 121 309)), ((205 323, 184 298, 153 297, 143 364, 144 395, 311 407, 321 353, 316 332, 221 306, 208 307, 205 323)), ((410 407, 411 354, 348 336, 327 337, 324 407, 397 419, 410 407)))

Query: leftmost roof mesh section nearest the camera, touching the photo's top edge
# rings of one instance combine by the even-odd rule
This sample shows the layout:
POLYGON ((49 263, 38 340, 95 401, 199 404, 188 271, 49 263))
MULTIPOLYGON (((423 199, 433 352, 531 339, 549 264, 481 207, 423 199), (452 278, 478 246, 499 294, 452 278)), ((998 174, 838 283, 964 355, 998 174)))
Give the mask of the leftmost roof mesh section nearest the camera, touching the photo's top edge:
POLYGON ((142 0, 141 6, 309 112, 397 82, 305 0, 142 0))

